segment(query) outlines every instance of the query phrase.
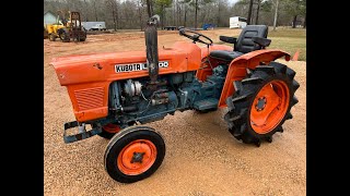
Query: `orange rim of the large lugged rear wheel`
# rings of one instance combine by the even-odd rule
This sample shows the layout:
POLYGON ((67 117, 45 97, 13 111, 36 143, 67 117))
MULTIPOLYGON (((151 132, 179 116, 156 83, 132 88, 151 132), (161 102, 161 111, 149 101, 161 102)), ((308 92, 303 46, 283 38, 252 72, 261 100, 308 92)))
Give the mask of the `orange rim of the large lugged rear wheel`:
POLYGON ((283 81, 271 81, 256 95, 250 108, 250 125, 258 134, 271 132, 284 118, 290 93, 283 81))

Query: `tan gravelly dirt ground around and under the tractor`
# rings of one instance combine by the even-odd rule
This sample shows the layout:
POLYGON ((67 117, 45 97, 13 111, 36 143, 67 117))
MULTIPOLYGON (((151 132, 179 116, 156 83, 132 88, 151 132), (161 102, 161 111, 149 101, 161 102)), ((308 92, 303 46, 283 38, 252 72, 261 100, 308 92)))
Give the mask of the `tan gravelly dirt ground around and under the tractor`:
MULTIPOLYGON (((238 35, 219 29, 203 34, 238 35)), ((177 32, 159 32, 159 46, 188 40, 177 32)), ((189 40, 188 40, 189 41, 189 40)), ((45 195, 306 195, 306 63, 284 62, 301 84, 294 118, 284 133, 259 148, 237 142, 222 117, 225 110, 199 114, 176 112, 148 124, 163 135, 166 155, 150 177, 121 184, 104 171, 108 140, 92 138, 66 145, 63 123, 73 121, 71 102, 59 85, 51 58, 96 52, 144 50, 143 33, 90 35, 85 42, 44 40, 44 194, 45 195)))

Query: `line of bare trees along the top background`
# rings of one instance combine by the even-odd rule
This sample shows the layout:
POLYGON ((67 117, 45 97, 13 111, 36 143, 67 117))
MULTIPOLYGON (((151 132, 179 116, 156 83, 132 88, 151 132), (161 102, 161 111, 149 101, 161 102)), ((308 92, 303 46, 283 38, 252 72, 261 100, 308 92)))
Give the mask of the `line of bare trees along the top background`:
POLYGON ((82 21, 104 21, 112 29, 143 29, 150 15, 161 16, 161 27, 201 27, 206 23, 229 27, 231 16, 248 24, 306 27, 306 0, 44 0, 44 12, 79 11, 82 21))

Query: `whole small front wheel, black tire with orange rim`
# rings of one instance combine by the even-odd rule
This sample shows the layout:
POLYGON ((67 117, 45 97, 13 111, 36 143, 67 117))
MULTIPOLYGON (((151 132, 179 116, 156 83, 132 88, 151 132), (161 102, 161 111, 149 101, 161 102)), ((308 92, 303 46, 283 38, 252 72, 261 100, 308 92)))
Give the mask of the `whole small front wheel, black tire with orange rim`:
POLYGON ((148 126, 130 126, 117 133, 105 150, 105 170, 112 179, 133 183, 152 175, 165 156, 163 137, 148 126))

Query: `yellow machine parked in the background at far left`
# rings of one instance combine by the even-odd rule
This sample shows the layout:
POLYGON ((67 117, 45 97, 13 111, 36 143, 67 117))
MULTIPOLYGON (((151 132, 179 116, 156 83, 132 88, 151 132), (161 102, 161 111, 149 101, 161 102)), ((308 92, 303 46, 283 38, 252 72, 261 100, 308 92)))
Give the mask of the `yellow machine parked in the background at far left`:
POLYGON ((46 26, 50 41, 60 38, 63 42, 69 42, 71 39, 74 41, 84 41, 86 39, 86 30, 81 25, 79 12, 68 12, 69 20, 65 19, 65 14, 58 11, 55 24, 46 26))

